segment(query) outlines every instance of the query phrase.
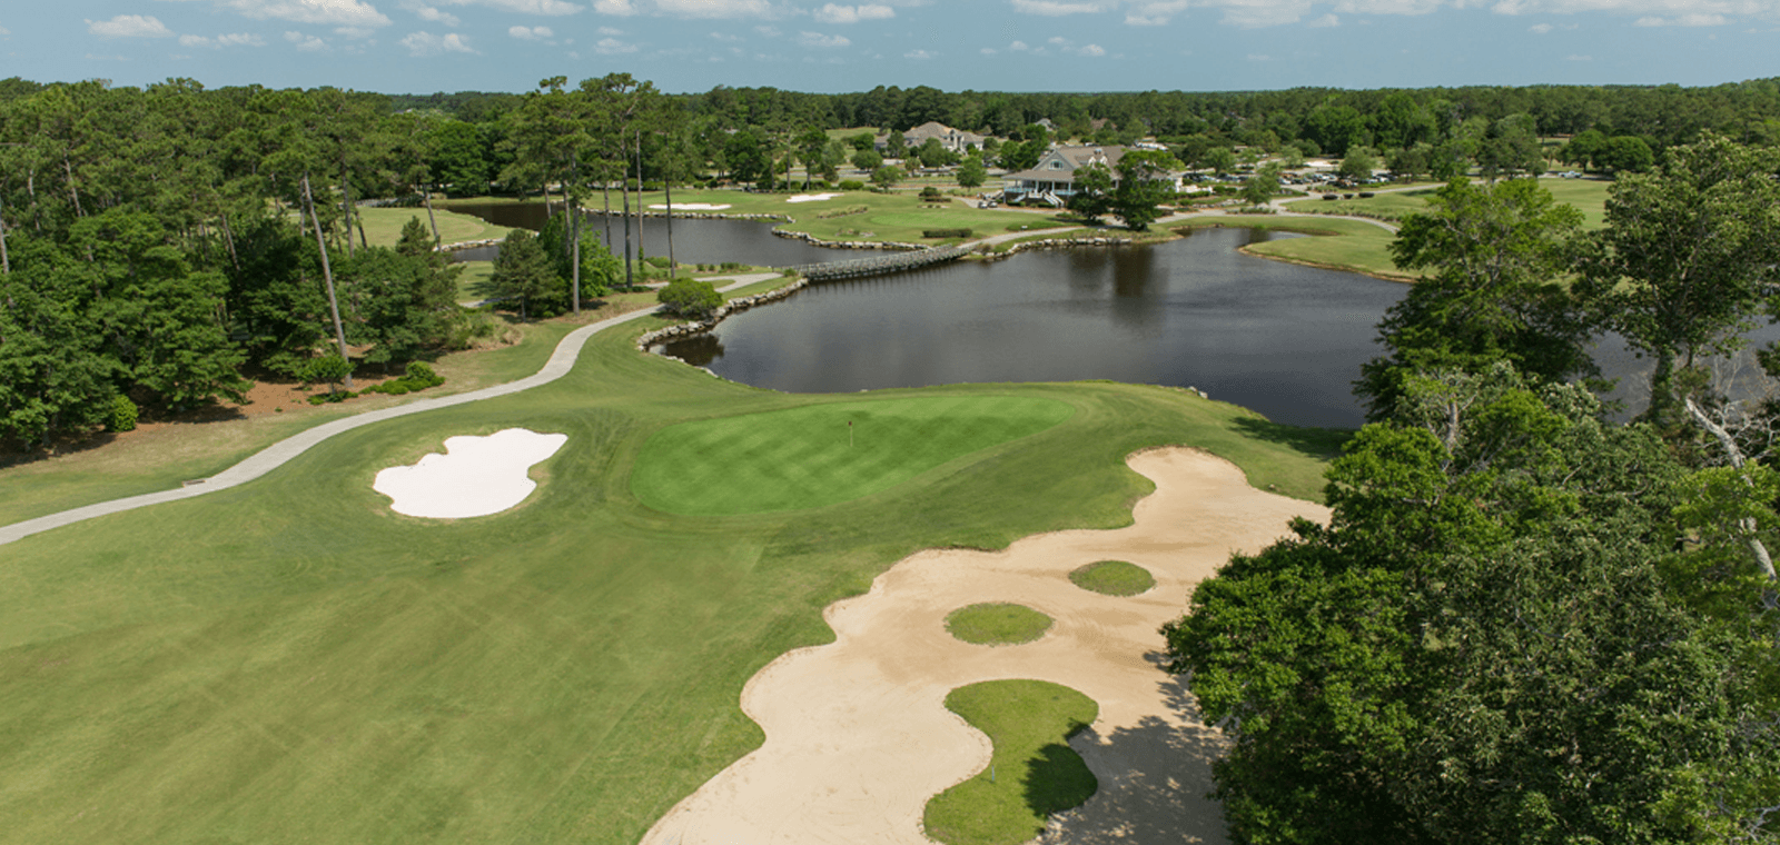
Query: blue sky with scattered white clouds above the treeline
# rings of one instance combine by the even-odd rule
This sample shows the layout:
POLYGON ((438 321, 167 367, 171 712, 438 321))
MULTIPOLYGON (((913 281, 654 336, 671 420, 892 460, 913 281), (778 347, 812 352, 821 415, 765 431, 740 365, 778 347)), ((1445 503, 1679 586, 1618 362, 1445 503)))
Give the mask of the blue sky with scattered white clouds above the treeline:
POLYGON ((527 91, 1711 85, 1780 75, 1780 0, 9 0, 0 76, 527 91))

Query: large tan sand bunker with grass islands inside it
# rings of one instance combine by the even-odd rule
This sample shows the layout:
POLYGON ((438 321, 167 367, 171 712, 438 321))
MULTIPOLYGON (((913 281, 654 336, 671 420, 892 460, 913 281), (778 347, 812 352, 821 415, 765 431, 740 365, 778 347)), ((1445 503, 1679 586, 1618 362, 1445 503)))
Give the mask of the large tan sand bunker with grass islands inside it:
POLYGON ((1155 493, 1129 528, 1040 534, 1006 551, 920 551, 865 596, 829 605, 833 644, 787 653, 742 688, 765 744, 643 841, 927 843, 927 799, 990 760, 988 738, 945 710, 945 694, 999 678, 1054 681, 1100 703, 1093 728, 1072 740, 1100 792, 1056 820, 1047 841, 1225 841, 1219 808, 1205 797, 1223 736, 1157 667, 1157 628, 1230 551, 1255 551, 1292 516, 1328 519, 1328 511, 1257 491, 1235 466, 1187 448, 1137 454, 1130 466, 1155 493), (1155 589, 1118 598, 1070 583, 1070 569, 1105 559, 1150 569, 1155 589), (977 601, 1016 601, 1056 624, 1024 646, 952 639, 945 614, 977 601))

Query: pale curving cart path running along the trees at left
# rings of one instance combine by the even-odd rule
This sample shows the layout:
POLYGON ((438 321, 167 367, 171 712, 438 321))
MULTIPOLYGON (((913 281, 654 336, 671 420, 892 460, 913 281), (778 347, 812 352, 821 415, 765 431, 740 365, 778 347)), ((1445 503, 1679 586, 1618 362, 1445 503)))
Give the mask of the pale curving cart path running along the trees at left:
MULTIPOLYGON (((735 290, 735 288, 740 288, 740 286, 746 286, 746 285, 753 285, 756 281, 773 279, 778 274, 774 274, 774 272, 758 272, 758 274, 746 274, 746 276, 732 276, 733 281, 730 281, 730 285, 724 285, 724 286, 721 286, 717 290, 719 292, 730 292, 730 290, 735 290)), ((235 466, 230 466, 228 470, 222 470, 221 473, 215 473, 215 475, 205 479, 203 482, 198 482, 198 484, 192 484, 192 486, 187 486, 187 487, 167 489, 167 491, 160 491, 160 493, 144 493, 141 496, 114 498, 110 502, 100 502, 100 503, 94 503, 94 505, 75 507, 75 509, 69 509, 69 511, 61 511, 61 512, 55 512, 55 514, 39 516, 36 519, 25 519, 21 523, 4 525, 4 527, 0 527, 0 546, 4 546, 7 543, 12 543, 16 539, 30 537, 32 534, 46 532, 50 528, 61 528, 62 525, 78 523, 82 519, 93 519, 94 516, 105 516, 105 514, 116 514, 116 512, 123 512, 123 511, 134 511, 137 507, 158 505, 162 502, 178 502, 182 498, 203 496, 205 493, 215 493, 219 489, 228 489, 228 487, 233 487, 237 484, 247 484, 247 482, 251 482, 251 480, 255 480, 255 479, 258 479, 258 477, 262 477, 262 475, 265 475, 265 473, 269 473, 269 471, 283 466, 292 457, 297 457, 303 452, 308 452, 310 447, 313 447, 313 445, 317 445, 317 443, 320 443, 320 441, 324 441, 328 438, 333 438, 335 434, 347 432, 347 431, 358 429, 361 425, 379 423, 383 420, 393 420, 397 416, 408 416, 408 414, 418 414, 418 413, 425 413, 425 411, 436 411, 440 407, 461 406, 465 402, 479 402, 479 400, 484 400, 484 398, 506 397, 507 393, 518 393, 522 390, 532 390, 532 388, 538 388, 538 386, 543 386, 543 384, 550 384, 552 381, 557 381, 562 375, 568 375, 568 372, 571 368, 575 368, 575 361, 580 358, 580 347, 587 343, 587 338, 591 338, 591 336, 595 336, 595 334, 598 334, 598 333, 602 333, 605 329, 611 329, 612 326, 625 324, 625 322, 641 318, 644 315, 651 315, 657 310, 660 310, 660 306, 644 308, 641 311, 630 311, 630 313, 618 315, 618 317, 612 317, 612 318, 607 318, 607 320, 600 320, 600 322, 595 322, 595 324, 587 324, 587 326, 582 326, 582 327, 571 331, 566 338, 562 338, 557 343, 555 352, 550 354, 550 359, 545 361, 545 366, 541 370, 538 370, 536 374, 527 375, 527 377, 523 377, 520 381, 509 381, 506 384, 495 384, 493 388, 473 390, 470 393, 456 393, 456 395, 450 395, 450 397, 438 397, 438 398, 422 398, 422 400, 417 400, 417 402, 408 402, 408 404, 395 406, 395 407, 383 407, 383 409, 377 409, 377 411, 367 411, 367 413, 361 413, 361 414, 354 414, 354 416, 335 420, 335 422, 329 422, 329 423, 324 423, 324 425, 317 425, 313 429, 303 431, 299 434, 292 434, 290 438, 285 438, 285 439, 281 439, 278 443, 272 443, 271 447, 265 447, 263 450, 255 452, 246 461, 242 461, 242 463, 239 463, 235 466)))

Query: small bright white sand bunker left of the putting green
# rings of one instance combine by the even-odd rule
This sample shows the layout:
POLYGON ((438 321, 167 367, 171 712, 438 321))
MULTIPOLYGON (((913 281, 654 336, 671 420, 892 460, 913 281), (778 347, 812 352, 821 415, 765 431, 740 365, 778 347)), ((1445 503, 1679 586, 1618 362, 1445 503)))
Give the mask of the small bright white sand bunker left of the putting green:
POLYGON ((372 489, 395 500, 390 509, 408 516, 461 519, 498 514, 538 489, 538 482, 525 477, 527 470, 554 455, 562 443, 568 443, 568 434, 525 429, 497 431, 486 438, 447 438, 443 455, 431 454, 415 466, 383 470, 372 489))

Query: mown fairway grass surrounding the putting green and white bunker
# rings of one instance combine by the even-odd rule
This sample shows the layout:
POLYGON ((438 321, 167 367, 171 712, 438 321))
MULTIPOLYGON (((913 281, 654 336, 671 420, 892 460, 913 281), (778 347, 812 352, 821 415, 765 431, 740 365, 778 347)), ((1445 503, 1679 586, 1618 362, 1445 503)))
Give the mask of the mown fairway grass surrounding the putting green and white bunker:
MULTIPOLYGON (((548 386, 5 546, 0 843, 630 843, 760 744, 737 706, 746 680, 831 640, 821 610, 897 559, 1127 525, 1152 486, 1123 459, 1164 443, 1315 498, 1339 439, 1134 384, 776 393, 639 354, 637 333, 662 324, 595 336, 548 386), (678 423, 983 397, 1070 414, 812 511, 682 516, 632 493, 644 445, 678 423), (440 523, 370 489, 449 436, 516 425, 570 439, 514 511, 440 523)), ((534 370, 570 327, 541 326, 445 388, 534 370)), ((230 448, 190 459, 251 447, 230 448)), ((141 463, 132 484, 203 475, 141 463)), ((14 511, 68 471, 18 470, 0 473, 14 511)))

